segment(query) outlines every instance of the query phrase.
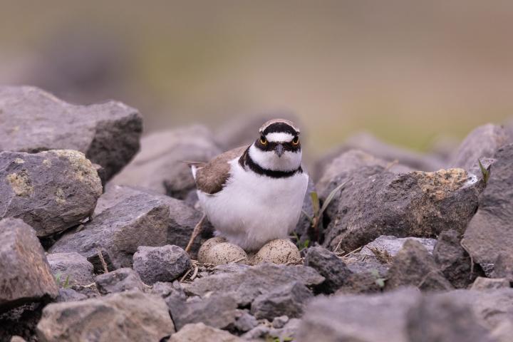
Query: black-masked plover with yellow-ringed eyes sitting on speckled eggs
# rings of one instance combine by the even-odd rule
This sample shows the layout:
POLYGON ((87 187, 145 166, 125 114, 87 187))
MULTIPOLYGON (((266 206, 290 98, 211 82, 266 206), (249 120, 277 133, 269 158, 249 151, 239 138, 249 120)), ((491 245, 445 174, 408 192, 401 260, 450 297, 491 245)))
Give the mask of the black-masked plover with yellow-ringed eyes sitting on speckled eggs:
POLYGON ((289 237, 309 183, 296 124, 269 120, 258 133, 249 146, 191 165, 199 204, 215 235, 246 251, 289 237))

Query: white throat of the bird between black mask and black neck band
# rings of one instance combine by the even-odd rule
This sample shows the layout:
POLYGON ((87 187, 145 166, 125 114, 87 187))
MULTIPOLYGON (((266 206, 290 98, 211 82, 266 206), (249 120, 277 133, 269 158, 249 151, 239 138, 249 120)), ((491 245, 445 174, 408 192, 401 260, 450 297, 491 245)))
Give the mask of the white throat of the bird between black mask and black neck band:
POLYGON ((278 157, 274 151, 262 151, 255 145, 251 145, 249 157, 264 170, 294 171, 301 165, 301 150, 299 152, 285 151, 281 157, 278 157))

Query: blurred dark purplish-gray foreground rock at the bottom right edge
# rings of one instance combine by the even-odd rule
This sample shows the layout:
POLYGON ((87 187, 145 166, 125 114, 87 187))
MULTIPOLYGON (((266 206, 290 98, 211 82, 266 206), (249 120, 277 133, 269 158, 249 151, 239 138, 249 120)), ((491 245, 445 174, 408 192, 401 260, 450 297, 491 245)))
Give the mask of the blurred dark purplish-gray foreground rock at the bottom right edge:
POLYGON ((410 341, 494 341, 472 306, 452 296, 424 297, 410 308, 407 317, 410 341))

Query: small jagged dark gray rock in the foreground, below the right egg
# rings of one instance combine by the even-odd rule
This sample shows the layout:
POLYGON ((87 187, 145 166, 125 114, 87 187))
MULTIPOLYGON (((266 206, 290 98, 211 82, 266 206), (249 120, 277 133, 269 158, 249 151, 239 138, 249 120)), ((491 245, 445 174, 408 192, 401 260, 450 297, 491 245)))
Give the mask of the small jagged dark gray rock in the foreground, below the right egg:
POLYGON ((303 314, 306 302, 313 296, 304 284, 294 281, 257 296, 252 303, 251 313, 256 318, 266 318, 269 321, 283 315, 297 318, 303 314))

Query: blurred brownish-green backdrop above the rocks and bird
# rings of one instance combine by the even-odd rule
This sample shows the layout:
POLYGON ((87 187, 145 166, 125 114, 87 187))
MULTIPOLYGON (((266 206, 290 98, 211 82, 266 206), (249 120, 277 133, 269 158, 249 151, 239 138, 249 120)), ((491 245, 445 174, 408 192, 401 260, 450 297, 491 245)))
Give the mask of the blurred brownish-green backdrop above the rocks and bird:
POLYGON ((513 1, 0 4, 0 83, 121 100, 146 132, 290 110, 316 152, 427 150, 513 115, 513 1))

